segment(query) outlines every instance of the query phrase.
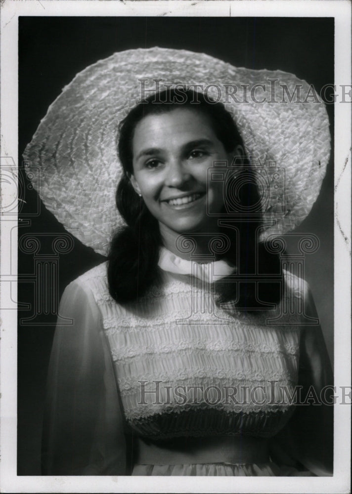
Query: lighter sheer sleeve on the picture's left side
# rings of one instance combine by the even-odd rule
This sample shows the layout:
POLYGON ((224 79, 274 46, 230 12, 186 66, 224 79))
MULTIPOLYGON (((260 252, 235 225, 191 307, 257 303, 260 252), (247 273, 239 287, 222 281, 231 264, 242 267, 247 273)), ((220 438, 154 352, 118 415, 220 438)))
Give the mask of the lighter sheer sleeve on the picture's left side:
POLYGON ((44 475, 125 475, 126 446, 108 343, 88 287, 64 291, 51 350, 42 445, 44 475))

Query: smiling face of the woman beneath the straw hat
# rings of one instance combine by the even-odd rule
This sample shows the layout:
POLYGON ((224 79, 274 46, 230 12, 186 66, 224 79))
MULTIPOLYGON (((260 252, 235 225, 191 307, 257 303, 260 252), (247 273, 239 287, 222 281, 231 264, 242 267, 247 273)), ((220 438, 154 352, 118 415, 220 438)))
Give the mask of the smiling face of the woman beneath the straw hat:
POLYGON ((132 153, 132 185, 162 235, 217 230, 207 203, 220 212, 222 182, 207 184, 208 168, 231 158, 207 116, 185 108, 148 115, 136 125, 132 153))

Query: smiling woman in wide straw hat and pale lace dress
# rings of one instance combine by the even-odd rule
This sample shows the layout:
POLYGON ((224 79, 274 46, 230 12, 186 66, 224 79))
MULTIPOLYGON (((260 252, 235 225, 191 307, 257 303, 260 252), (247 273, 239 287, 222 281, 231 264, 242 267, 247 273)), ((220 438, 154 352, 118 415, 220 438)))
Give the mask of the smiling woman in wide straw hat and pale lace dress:
MULTIPOLYGON (((228 113, 216 93, 185 88, 180 97, 184 83, 177 90, 168 86, 182 82, 177 70, 188 83, 208 86, 217 73, 222 95, 234 76, 259 82, 261 71, 235 69, 200 54, 197 61, 195 66, 190 52, 153 48, 118 53, 88 67, 52 105, 45 128, 26 150, 35 163, 40 157, 48 175, 50 166, 62 167, 51 173, 50 187, 62 189, 58 181, 69 178, 65 209, 58 213, 57 205, 51 207, 72 233, 101 252, 106 248, 101 240, 109 238, 101 235, 104 228, 121 225, 111 215, 107 185, 116 183, 111 146, 116 132, 110 124, 123 121, 117 206, 127 226, 116 233, 108 263, 63 294, 60 316, 72 318, 73 325, 57 327, 52 349, 44 473, 331 473, 329 407, 306 403, 293 415, 289 399, 296 384, 312 385, 319 394, 331 383, 321 330, 310 326, 314 305, 307 285, 287 272, 282 278, 274 248, 263 243, 270 233, 300 222, 316 197, 328 158, 320 144, 326 115, 320 105, 289 112, 253 105, 249 112, 234 98, 225 101, 228 113), (141 62, 137 68, 135 58, 141 62), (118 89, 117 73, 123 84, 118 89), (166 89, 146 97, 148 79, 166 79, 166 89), (141 101, 122 104, 131 86, 137 95, 136 80, 141 101), (77 119, 67 129, 63 123, 70 114, 77 119), (308 138, 307 122, 313 128, 308 138), (278 146, 278 132, 290 141, 278 146), (316 156, 307 157, 314 145, 316 156), (256 163, 269 156, 286 162, 288 183, 280 182, 280 167, 261 169, 256 163), (73 173, 85 157, 96 168, 86 166, 80 190, 73 173), (308 169, 305 197, 302 177, 308 169), (259 197, 254 185, 260 186, 260 177, 270 191, 266 197, 265 189, 259 197), (76 205, 86 212, 86 206, 92 210, 89 202, 95 207, 83 234, 77 218, 69 218, 71 189, 76 205), (281 217, 278 206, 286 206, 281 217), (285 313, 284 303, 292 308, 297 299, 285 313)), ((42 196, 48 190, 42 184, 42 196)))

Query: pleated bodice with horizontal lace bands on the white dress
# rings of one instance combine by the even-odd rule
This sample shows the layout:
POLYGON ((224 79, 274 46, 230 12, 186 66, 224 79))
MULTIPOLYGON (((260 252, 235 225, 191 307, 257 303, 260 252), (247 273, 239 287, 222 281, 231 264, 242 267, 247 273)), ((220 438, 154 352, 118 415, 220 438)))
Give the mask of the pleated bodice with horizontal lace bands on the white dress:
MULTIPOLYGON (((303 297, 292 275, 286 278, 287 296, 303 297)), ((124 306, 108 293, 106 264, 75 283, 91 290, 101 312, 134 433, 270 437, 291 416, 299 315, 271 326, 266 320, 280 306, 251 317, 220 310, 211 283, 166 271, 158 286, 124 306)))

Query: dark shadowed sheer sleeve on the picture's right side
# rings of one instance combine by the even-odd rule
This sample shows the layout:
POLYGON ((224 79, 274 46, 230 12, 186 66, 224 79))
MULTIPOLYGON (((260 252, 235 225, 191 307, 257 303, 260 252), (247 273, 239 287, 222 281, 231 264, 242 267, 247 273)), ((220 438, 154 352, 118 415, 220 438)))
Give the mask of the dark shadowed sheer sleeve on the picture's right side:
MULTIPOLYGON (((306 285, 305 313, 317 318, 306 285)), ((297 461, 317 476, 333 474, 333 373, 320 325, 302 329, 300 343, 300 404, 288 425, 275 438, 274 459, 297 466, 297 461), (296 463, 295 463, 296 461, 296 463)))

